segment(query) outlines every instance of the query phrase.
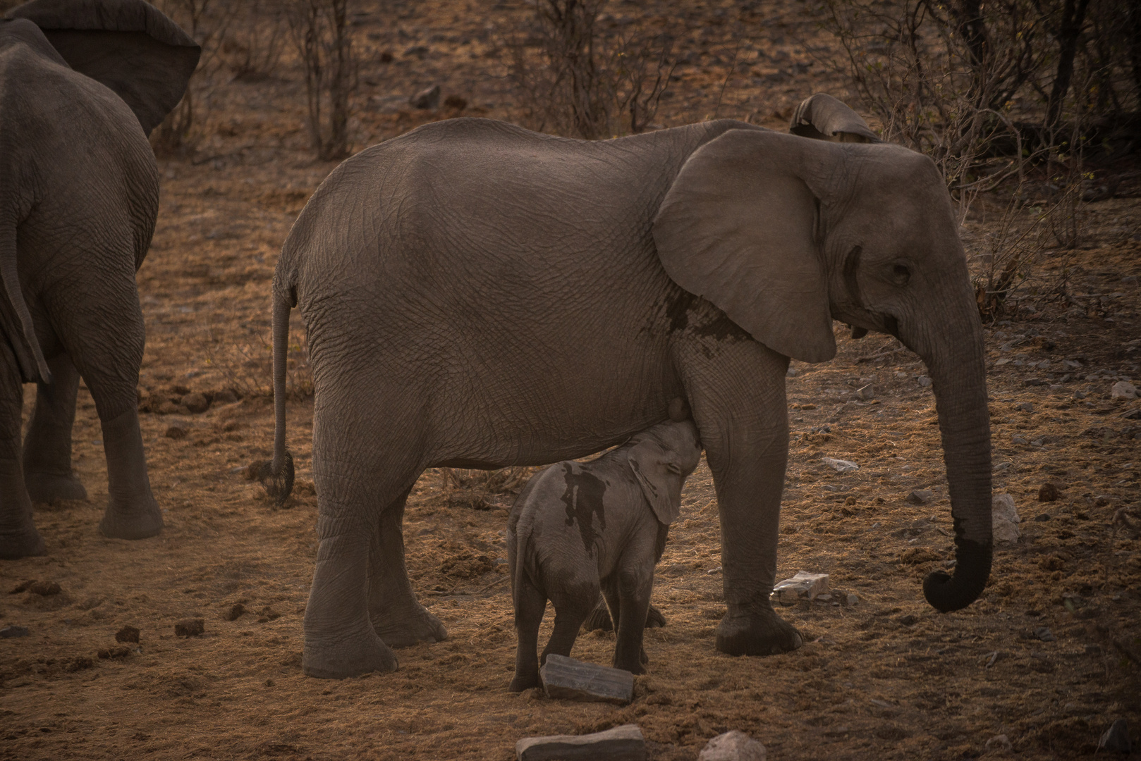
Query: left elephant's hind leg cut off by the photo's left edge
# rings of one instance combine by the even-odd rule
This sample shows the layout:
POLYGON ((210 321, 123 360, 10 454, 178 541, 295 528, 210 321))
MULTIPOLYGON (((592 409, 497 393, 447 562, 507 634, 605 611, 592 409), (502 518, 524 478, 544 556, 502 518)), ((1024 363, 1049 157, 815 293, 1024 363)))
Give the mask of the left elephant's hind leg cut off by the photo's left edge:
POLYGON ((32 501, 19 464, 23 383, 16 355, 0 341, 0 560, 43 554, 43 537, 32 521, 32 501))

